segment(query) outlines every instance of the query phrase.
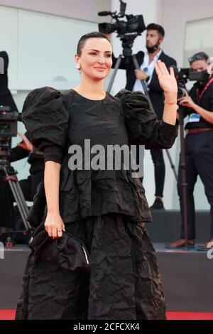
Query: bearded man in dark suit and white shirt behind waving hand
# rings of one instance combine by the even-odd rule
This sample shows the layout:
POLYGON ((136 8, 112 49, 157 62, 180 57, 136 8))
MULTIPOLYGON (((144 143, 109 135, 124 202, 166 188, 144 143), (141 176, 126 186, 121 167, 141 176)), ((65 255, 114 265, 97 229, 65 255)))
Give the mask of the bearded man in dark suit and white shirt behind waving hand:
MULTIPOLYGON (((143 91, 140 80, 146 80, 148 85, 148 93, 153 103, 155 113, 158 119, 163 117, 163 90, 160 88, 158 82, 158 76, 155 72, 155 64, 158 60, 162 60, 165 65, 170 68, 172 65, 177 65, 173 58, 165 55, 163 50, 160 48, 160 44, 163 42, 165 31, 162 26, 151 23, 146 27, 146 53, 139 51, 136 54, 138 65, 141 70, 136 70, 133 64, 133 59, 130 59, 130 63, 126 63, 123 58, 121 60, 120 69, 126 70, 126 90, 143 91)), ((110 34, 107 35, 110 38, 110 34)), ((112 55, 113 65, 116 64, 116 59, 112 55)), ((139 149, 139 148, 137 148, 139 149)), ((139 151, 138 151, 139 153, 139 151)), ((164 210, 163 206, 163 188, 165 181, 165 163, 163 160, 162 150, 151 149, 151 156, 155 168, 155 202, 151 206, 152 210, 164 210)), ((137 159, 137 163, 139 159, 137 159)), ((141 179, 142 181, 142 179, 141 179)))

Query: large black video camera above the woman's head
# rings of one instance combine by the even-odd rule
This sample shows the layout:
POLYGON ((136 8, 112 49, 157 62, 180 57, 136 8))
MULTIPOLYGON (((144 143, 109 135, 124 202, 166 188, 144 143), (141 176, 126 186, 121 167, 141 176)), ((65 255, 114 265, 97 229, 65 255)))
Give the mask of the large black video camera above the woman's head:
POLYGON ((143 21, 143 15, 126 15, 126 3, 120 0, 120 13, 117 14, 117 11, 100 11, 99 16, 110 15, 114 20, 113 23, 99 23, 99 32, 100 33, 118 33, 117 37, 124 37, 126 34, 135 34, 140 36, 143 31, 146 30, 145 23, 143 21), (119 18, 126 17, 127 21, 121 21, 119 18))

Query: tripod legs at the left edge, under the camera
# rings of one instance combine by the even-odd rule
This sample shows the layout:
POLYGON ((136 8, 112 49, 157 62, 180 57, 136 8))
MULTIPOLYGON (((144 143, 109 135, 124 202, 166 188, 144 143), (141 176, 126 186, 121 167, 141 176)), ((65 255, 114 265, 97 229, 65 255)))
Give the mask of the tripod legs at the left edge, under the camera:
POLYGON ((14 170, 13 167, 9 166, 9 161, 7 159, 5 160, 4 158, 0 160, 0 183, 1 183, 1 190, 4 189, 5 191, 5 200, 4 200, 4 218, 5 218, 5 230, 0 233, 0 236, 5 236, 7 237, 7 240, 10 239, 11 242, 11 236, 14 234, 23 234, 23 235, 28 235, 28 233, 31 230, 31 225, 29 222, 26 220, 28 216, 28 207, 26 205, 26 200, 23 196, 21 186, 18 183, 18 178, 16 176, 17 172, 14 170), (6 194, 9 193, 9 190, 11 190, 12 194, 12 199, 11 195, 7 196, 6 194), (9 201, 12 200, 12 204, 9 203, 9 201), (10 226, 10 217, 11 217, 11 209, 13 210, 13 200, 16 202, 18 206, 18 211, 21 215, 23 225, 26 230, 20 230, 20 231, 11 231, 9 229, 10 226), (9 230, 9 231, 8 231, 9 230))

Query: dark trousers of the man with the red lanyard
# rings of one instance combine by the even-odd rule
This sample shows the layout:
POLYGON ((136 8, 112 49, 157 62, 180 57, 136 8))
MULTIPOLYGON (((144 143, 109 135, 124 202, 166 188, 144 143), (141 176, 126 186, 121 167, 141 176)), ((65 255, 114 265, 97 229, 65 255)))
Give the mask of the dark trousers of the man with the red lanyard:
MULTIPOLYGON (((188 134, 185 139, 185 161, 187 177, 187 224, 188 239, 195 239, 195 201, 193 191, 197 176, 200 176, 204 191, 210 204, 211 226, 209 237, 213 238, 213 130, 188 134)), ((178 195, 181 210, 181 238, 184 239, 182 181, 179 163, 178 195)))

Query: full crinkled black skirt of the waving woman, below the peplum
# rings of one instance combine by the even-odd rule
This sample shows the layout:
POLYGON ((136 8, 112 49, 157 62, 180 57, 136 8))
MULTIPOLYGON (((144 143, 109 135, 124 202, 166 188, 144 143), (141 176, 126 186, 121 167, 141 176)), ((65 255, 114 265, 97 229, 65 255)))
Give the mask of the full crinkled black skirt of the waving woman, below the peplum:
POLYGON ((155 251, 141 223, 110 214, 66 230, 86 244, 91 274, 70 273, 31 253, 16 320, 165 319, 155 251))

